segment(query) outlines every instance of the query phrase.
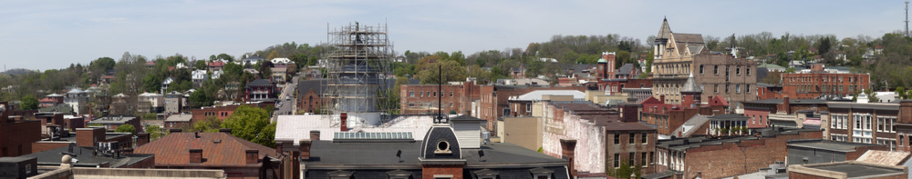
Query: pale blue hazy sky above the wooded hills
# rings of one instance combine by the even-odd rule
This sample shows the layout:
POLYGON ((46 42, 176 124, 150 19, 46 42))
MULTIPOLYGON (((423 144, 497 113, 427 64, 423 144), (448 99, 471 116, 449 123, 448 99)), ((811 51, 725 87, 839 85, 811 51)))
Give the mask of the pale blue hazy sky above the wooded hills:
POLYGON ((271 45, 326 43, 327 27, 389 25, 399 54, 525 48, 554 35, 645 44, 662 18, 712 36, 879 37, 905 28, 903 1, 0 1, 0 64, 47 70, 109 56, 235 57, 271 45))

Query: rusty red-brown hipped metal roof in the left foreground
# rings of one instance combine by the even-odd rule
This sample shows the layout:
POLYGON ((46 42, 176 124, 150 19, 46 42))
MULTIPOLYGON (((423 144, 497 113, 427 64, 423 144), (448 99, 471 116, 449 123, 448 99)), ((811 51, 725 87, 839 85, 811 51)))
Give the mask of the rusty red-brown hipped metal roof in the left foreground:
POLYGON ((248 149, 259 150, 257 158, 276 156, 275 149, 254 144, 244 139, 224 133, 171 133, 149 144, 133 150, 134 154, 155 154, 156 166, 195 165, 195 166, 258 166, 246 164, 245 152, 248 149), (203 161, 190 164, 190 149, 202 149, 203 161))

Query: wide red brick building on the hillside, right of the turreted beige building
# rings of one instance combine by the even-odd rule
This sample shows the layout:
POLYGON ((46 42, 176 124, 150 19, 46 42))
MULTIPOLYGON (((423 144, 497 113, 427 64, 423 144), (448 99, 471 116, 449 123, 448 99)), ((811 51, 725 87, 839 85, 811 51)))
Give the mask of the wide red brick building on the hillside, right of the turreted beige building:
POLYGON ((812 65, 810 70, 782 74, 782 93, 796 99, 810 99, 820 94, 845 96, 855 94, 855 91, 870 89, 870 81, 871 77, 868 74, 825 70, 823 65, 812 65))

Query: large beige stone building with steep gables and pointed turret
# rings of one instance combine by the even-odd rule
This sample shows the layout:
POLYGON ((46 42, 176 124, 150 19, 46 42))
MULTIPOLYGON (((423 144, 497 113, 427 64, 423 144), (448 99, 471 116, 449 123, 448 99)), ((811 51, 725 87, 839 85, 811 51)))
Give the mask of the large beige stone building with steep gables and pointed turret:
POLYGON ((757 98, 757 64, 729 55, 710 52, 703 35, 672 33, 668 20, 662 22, 653 46, 652 92, 656 98, 665 95, 666 104, 680 104, 680 90, 689 75, 703 87, 700 101, 722 95, 730 109, 739 102, 757 98))

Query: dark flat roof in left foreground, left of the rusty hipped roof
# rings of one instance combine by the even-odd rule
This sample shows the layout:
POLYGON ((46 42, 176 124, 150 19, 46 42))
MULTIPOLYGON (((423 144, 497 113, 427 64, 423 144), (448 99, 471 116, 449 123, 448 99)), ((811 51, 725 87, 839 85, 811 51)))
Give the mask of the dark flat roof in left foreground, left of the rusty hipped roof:
POLYGON ((108 163, 110 168, 119 168, 120 166, 124 165, 136 164, 148 158, 154 157, 152 154, 120 154, 120 157, 112 157, 105 155, 93 155, 93 151, 94 149, 92 147, 74 146, 73 151, 70 152, 69 146, 64 146, 40 153, 26 154, 22 156, 36 157, 38 165, 59 166, 60 158, 63 157, 63 154, 61 153, 68 152, 76 154, 76 156, 73 156, 73 159, 78 160, 78 162, 72 163, 76 166, 95 167, 103 163, 108 163))

